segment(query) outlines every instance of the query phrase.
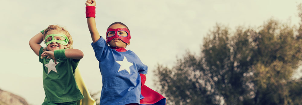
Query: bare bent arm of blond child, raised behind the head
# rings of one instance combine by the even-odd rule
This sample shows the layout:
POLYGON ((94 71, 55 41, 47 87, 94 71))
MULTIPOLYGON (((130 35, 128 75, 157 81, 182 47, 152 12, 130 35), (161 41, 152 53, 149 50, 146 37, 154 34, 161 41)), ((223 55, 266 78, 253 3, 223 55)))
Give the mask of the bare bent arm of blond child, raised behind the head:
POLYGON ((29 40, 29 46, 31 46, 31 49, 36 53, 36 55, 39 56, 40 48, 42 47, 40 44, 43 42, 43 35, 41 32, 39 32, 37 35, 35 35, 31 40, 29 40))

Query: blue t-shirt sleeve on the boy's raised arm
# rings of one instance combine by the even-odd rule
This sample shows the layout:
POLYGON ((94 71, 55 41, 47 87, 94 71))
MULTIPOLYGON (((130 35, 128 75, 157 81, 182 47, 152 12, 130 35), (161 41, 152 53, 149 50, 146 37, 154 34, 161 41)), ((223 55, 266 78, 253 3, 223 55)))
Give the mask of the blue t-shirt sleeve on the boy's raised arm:
POLYGON ((91 46, 95 52, 95 57, 98 61, 101 61, 101 59, 104 58, 106 51, 108 51, 106 41, 101 37, 98 41, 92 43, 91 46))

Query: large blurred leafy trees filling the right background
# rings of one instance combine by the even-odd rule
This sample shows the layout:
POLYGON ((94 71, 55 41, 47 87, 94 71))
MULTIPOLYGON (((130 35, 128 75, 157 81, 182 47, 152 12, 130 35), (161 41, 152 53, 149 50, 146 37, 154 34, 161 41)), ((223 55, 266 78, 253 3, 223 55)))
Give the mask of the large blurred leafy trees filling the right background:
POLYGON ((302 23, 295 29, 269 19, 230 30, 217 24, 200 55, 188 51, 173 68, 158 64, 155 85, 167 104, 301 105, 302 80, 291 77, 301 65, 302 23))

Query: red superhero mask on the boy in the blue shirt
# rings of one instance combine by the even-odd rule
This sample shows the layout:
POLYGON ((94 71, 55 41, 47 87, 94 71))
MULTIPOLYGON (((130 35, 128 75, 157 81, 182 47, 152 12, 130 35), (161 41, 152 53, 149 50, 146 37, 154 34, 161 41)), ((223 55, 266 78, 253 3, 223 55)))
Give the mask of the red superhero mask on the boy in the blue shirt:
POLYGON ((125 42, 126 44, 130 42, 130 32, 128 29, 126 28, 118 28, 118 29, 107 29, 106 32, 106 43, 110 42, 112 39, 114 38, 119 38, 120 40, 122 40, 123 42, 125 42), (122 31, 122 32, 121 32, 122 31), (109 32, 112 34, 112 32, 114 32, 114 35, 108 35, 109 32), (120 33, 119 33, 120 32, 120 33), (122 36, 121 34, 123 32, 127 32, 127 36, 122 36), (109 37, 108 37, 109 36, 109 37))

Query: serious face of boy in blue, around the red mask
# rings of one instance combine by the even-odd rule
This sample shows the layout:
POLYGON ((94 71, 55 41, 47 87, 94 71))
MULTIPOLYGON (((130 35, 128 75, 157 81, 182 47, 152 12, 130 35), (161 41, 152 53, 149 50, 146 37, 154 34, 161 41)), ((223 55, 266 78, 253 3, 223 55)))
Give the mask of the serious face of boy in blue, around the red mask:
MULTIPOLYGON (((125 26, 123 25, 120 25, 120 24, 114 24, 112 26, 110 26, 108 29, 119 29, 119 28, 126 28, 125 26)), ((115 35, 115 32, 108 32, 108 35, 107 37, 111 37, 115 35)), ((120 36, 127 36, 127 32, 125 31, 118 31, 117 32, 117 35, 120 35, 120 36)), ((111 47, 118 47, 118 48, 125 48, 126 45, 130 45, 130 42, 129 43, 124 43, 122 40, 120 40, 119 38, 114 38, 112 39, 110 42, 109 42, 109 45, 111 47)))

